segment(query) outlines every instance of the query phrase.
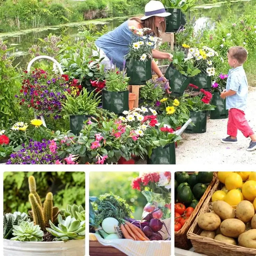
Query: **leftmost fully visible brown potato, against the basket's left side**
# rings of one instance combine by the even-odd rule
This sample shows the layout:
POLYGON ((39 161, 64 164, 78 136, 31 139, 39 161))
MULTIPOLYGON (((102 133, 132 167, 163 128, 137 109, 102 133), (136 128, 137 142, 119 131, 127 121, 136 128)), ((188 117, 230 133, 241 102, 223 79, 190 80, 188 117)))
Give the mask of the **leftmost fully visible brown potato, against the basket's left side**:
POLYGON ((198 226, 204 230, 213 231, 221 225, 221 219, 215 213, 203 213, 198 218, 198 226))

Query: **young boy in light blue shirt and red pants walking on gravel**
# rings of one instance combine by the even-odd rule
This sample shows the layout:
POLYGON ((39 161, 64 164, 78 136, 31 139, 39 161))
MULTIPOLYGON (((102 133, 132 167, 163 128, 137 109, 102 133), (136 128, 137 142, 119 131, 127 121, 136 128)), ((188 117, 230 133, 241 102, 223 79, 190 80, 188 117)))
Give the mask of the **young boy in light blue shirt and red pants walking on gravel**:
POLYGON ((233 46, 228 49, 228 64, 232 69, 228 71, 226 89, 221 93, 221 98, 226 99, 228 109, 227 138, 223 143, 237 143, 237 130, 251 138, 247 151, 256 149, 256 134, 245 119, 245 108, 248 96, 248 82, 243 69, 243 63, 247 59, 247 51, 241 46, 233 46))

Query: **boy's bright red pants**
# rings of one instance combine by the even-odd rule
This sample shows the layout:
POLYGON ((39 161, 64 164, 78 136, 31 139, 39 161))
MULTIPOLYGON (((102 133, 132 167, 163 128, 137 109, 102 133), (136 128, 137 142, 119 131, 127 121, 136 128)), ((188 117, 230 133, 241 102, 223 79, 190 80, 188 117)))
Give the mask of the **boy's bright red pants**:
POLYGON ((237 130, 240 130, 246 138, 254 134, 254 131, 245 119, 245 113, 240 109, 234 108, 228 111, 227 130, 227 134, 233 137, 237 137, 237 130))

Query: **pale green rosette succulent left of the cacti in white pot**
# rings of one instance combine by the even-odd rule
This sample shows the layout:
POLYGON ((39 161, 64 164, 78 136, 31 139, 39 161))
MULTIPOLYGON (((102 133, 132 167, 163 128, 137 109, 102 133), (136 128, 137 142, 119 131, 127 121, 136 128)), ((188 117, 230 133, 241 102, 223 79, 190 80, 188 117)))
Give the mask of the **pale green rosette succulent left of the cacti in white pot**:
POLYGON ((15 237, 11 240, 40 242, 43 241, 43 231, 33 222, 22 221, 19 225, 13 225, 13 233, 15 237))

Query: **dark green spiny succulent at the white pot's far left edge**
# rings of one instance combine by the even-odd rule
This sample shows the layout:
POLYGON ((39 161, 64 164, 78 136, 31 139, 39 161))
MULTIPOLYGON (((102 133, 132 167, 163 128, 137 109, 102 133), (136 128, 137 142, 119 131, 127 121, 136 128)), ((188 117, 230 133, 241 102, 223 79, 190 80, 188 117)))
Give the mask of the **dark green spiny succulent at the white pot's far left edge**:
POLYGON ((13 225, 19 225, 22 221, 30 222, 30 217, 25 212, 6 213, 3 216, 3 238, 10 239, 13 225))

